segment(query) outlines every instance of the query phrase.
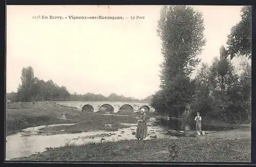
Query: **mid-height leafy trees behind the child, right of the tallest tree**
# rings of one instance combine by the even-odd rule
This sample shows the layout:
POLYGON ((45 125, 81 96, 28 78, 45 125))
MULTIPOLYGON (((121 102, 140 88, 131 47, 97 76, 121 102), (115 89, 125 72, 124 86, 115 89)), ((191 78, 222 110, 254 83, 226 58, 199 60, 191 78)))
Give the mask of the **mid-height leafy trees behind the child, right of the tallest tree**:
POLYGON ((195 78, 192 116, 200 112, 206 120, 251 121, 251 67, 247 61, 241 65, 238 75, 223 46, 210 67, 202 64, 195 78))

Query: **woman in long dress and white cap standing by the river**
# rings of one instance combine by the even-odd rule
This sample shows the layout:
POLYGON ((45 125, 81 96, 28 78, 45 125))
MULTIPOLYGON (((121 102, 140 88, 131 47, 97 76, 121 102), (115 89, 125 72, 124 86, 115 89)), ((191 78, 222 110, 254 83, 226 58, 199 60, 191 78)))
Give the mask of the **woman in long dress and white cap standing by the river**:
POLYGON ((140 111, 141 111, 141 116, 140 116, 140 120, 138 120, 138 126, 136 130, 136 135, 135 135, 135 137, 138 140, 142 140, 147 137, 147 127, 146 127, 147 119, 146 119, 145 109, 142 108, 140 111))

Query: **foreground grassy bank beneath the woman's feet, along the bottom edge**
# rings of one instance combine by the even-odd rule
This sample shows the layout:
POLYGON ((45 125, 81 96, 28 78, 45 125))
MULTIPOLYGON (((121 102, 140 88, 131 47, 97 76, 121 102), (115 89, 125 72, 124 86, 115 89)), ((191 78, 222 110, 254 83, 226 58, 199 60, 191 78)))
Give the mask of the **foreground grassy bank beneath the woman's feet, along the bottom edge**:
POLYGON ((123 140, 65 146, 12 160, 44 161, 182 161, 182 162, 249 162, 250 139, 152 139, 123 140), (169 156, 168 146, 179 147, 176 157, 169 156))

